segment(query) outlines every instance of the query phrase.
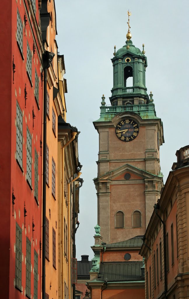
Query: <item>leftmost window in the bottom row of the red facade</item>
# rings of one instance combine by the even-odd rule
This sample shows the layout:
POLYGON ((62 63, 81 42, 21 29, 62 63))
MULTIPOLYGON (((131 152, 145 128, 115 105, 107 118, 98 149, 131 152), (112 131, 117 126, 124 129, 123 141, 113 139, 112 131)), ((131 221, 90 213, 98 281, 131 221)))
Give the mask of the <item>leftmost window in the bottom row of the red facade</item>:
POLYGON ((15 269, 15 286, 21 290, 22 276, 22 230, 16 223, 16 269, 15 269))

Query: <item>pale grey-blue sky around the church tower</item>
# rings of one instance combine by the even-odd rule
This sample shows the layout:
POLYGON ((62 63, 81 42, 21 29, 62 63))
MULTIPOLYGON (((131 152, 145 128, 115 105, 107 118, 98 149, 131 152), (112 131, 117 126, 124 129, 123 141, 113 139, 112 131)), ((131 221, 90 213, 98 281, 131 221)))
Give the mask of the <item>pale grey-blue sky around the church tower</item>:
POLYGON ((102 94, 106 104, 113 87, 114 45, 125 45, 127 10, 131 11, 133 44, 145 44, 147 92, 153 93, 157 117, 162 119, 165 143, 160 147, 164 184, 176 162, 176 150, 189 144, 189 2, 185 0, 55 0, 58 51, 64 54, 67 79, 67 122, 76 126, 79 161, 84 179, 79 196, 76 257, 93 258, 97 224, 98 133, 102 94))

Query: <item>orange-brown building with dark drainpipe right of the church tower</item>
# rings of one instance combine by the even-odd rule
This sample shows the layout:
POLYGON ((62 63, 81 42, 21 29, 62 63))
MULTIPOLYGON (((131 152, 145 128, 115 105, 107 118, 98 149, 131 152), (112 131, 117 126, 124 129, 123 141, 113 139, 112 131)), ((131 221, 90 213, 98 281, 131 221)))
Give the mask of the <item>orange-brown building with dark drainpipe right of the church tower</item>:
POLYGON ((145 258, 145 298, 188 298, 189 146, 176 152, 140 254, 145 258))

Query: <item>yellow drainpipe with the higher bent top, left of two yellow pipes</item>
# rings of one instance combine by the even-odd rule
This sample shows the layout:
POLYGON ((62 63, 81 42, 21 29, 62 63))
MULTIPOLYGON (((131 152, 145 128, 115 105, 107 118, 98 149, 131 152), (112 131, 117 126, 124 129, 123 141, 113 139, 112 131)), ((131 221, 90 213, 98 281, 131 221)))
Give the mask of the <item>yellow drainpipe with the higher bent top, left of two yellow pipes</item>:
MULTIPOLYGON (((76 137, 77 132, 72 132, 72 138, 63 145, 62 147, 62 204, 61 204, 61 243, 64 244, 64 234, 63 234, 63 228, 64 228, 64 217, 63 217, 63 196, 64 196, 64 149, 67 147, 68 144, 70 144, 76 137)), ((61 274, 61 291, 62 291, 62 298, 64 298, 64 251, 63 251, 63 245, 61 248, 61 264, 62 264, 62 274, 61 274)))

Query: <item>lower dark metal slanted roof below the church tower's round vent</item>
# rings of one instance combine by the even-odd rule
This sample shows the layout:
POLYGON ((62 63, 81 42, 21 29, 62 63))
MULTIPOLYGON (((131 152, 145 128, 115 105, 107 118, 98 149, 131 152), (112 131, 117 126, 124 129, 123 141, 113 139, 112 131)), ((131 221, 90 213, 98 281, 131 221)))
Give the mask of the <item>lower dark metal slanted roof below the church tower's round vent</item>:
POLYGON ((98 279, 100 281, 142 281, 142 262, 105 262, 100 264, 98 279))

